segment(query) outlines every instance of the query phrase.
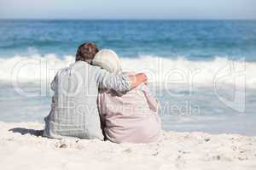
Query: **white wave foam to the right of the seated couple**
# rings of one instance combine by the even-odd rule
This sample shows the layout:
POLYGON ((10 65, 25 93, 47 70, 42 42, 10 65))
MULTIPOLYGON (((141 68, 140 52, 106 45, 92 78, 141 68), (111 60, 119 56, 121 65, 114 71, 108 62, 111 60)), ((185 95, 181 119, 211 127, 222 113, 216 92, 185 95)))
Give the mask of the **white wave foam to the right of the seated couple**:
POLYGON ((195 61, 142 56, 139 59, 122 59, 125 69, 145 71, 152 82, 189 83, 193 85, 235 84, 256 88, 256 63, 244 59, 230 60, 215 57, 211 61, 195 61))

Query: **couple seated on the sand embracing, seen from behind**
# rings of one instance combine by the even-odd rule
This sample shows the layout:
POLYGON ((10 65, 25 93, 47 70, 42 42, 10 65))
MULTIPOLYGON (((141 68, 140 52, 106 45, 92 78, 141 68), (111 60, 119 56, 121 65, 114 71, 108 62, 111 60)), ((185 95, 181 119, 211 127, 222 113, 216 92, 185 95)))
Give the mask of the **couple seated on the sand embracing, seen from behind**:
POLYGON ((158 101, 145 74, 122 72, 112 50, 92 42, 79 46, 76 61, 57 72, 44 136, 149 143, 161 139, 158 101))

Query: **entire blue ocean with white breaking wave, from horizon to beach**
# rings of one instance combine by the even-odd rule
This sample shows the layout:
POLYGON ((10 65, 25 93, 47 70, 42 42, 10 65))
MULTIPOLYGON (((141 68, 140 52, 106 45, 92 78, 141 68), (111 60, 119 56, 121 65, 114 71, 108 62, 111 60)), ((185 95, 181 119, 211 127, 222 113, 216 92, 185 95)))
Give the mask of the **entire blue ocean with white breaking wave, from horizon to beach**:
POLYGON ((165 130, 256 135, 254 20, 0 20, 0 121, 44 122, 83 42, 148 74, 165 130))

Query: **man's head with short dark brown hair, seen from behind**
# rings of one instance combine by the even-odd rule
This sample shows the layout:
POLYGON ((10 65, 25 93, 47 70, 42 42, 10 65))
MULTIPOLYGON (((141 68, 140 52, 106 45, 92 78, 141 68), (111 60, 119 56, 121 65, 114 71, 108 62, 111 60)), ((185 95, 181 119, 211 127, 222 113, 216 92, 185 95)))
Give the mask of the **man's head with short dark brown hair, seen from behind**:
POLYGON ((85 61, 91 64, 92 59, 94 59, 96 53, 98 53, 99 49, 96 47, 96 44, 93 42, 86 42, 79 46, 76 61, 85 61))

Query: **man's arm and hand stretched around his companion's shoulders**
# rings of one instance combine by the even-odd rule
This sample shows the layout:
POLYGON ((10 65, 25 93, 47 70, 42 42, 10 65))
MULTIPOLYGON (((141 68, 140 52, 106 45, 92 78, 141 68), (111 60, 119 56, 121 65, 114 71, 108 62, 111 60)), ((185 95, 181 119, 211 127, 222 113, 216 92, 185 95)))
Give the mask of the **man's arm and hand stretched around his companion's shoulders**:
POLYGON ((135 75, 110 74, 108 71, 96 67, 96 82, 99 88, 113 89, 119 92, 127 92, 137 88, 139 84, 147 81, 144 73, 135 75))

